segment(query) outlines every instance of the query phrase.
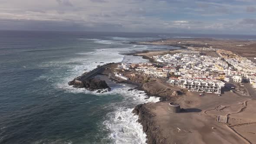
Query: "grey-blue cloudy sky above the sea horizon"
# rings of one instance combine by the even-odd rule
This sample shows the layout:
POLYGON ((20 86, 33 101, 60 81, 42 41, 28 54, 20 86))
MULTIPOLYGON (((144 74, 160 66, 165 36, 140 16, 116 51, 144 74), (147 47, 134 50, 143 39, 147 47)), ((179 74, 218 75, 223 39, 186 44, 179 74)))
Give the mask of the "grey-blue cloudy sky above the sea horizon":
POLYGON ((256 34, 256 0, 0 0, 0 29, 256 34))

